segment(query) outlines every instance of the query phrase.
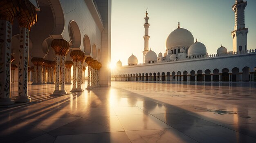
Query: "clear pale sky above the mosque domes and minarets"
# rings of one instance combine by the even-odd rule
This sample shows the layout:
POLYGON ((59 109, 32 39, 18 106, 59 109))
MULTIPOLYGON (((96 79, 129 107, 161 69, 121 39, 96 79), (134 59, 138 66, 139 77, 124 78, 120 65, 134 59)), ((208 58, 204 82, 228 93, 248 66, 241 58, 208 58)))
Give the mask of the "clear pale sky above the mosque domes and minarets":
MULTIPOLYGON (((207 47, 209 54, 225 46, 232 51, 235 0, 112 0, 111 64, 122 65, 132 53, 143 63, 144 17, 148 8, 149 48, 158 55, 165 52, 166 38, 180 27, 207 47)), ((256 48, 256 0, 247 0, 245 27, 248 49, 256 48)))

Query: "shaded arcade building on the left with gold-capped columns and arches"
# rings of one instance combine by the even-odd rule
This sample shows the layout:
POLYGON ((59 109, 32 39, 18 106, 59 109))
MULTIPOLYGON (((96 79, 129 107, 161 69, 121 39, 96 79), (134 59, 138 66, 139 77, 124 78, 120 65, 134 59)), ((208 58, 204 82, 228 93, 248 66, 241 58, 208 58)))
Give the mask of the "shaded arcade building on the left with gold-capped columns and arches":
POLYGON ((30 84, 55 84, 53 95, 67 94, 65 84, 73 84, 71 92, 82 91, 85 69, 88 89, 110 86, 111 0, 1 0, 0 5, 0 105, 30 102, 30 84), (11 82, 18 84, 14 100, 11 82))

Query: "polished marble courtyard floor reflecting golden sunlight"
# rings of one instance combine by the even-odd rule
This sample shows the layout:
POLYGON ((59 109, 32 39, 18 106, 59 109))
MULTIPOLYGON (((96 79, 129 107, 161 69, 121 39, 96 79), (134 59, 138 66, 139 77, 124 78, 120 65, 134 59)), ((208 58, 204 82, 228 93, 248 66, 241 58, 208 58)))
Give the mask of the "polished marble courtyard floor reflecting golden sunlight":
POLYGON ((49 96, 53 90, 29 85, 36 102, 0 108, 0 142, 256 143, 256 83, 116 81, 49 96))

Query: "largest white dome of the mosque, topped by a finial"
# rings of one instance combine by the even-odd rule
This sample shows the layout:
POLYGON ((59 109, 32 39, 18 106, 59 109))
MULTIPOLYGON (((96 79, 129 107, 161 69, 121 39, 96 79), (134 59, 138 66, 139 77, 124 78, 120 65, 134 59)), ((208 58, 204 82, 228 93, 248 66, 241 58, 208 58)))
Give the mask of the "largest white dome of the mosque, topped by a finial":
POLYGON ((166 39, 166 48, 191 46, 194 43, 193 35, 186 29, 175 29, 166 39))

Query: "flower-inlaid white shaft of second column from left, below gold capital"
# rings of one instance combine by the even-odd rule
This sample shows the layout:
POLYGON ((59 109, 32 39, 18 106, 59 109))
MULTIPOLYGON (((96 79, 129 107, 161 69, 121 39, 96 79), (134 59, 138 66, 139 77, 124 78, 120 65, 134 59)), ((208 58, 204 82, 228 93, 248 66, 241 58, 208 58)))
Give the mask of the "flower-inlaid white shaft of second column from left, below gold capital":
POLYGON ((28 72, 28 52, 29 52, 29 29, 20 27, 20 46, 18 60, 18 96, 15 99, 17 103, 30 102, 27 95, 27 72, 28 72))

